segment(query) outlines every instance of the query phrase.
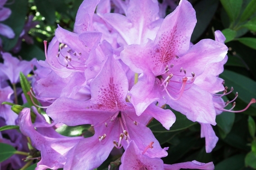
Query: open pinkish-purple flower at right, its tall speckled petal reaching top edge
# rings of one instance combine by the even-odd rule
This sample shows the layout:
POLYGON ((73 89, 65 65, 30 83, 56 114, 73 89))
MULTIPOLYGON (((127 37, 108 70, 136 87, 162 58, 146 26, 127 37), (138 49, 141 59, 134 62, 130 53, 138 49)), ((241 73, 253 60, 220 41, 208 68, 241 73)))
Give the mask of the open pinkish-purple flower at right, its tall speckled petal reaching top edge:
POLYGON ((195 23, 191 4, 180 1, 164 19, 154 41, 128 45, 121 52, 124 63, 141 73, 130 91, 137 115, 157 101, 160 106, 167 103, 191 121, 216 124, 213 96, 196 86, 194 80, 206 65, 223 60, 228 48, 210 39, 190 47, 195 23))

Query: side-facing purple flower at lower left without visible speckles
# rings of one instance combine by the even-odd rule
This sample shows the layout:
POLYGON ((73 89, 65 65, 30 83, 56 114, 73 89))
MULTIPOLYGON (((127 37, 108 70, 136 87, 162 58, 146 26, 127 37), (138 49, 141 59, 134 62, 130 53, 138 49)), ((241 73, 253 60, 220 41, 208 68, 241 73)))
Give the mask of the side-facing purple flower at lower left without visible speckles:
POLYGON ((24 108, 19 113, 19 127, 23 135, 31 138, 32 146, 41 151, 41 161, 36 169, 63 168, 67 152, 83 137, 62 136, 52 127, 55 123, 48 124, 35 108, 33 112, 36 114, 34 124, 31 122, 30 109, 24 108))

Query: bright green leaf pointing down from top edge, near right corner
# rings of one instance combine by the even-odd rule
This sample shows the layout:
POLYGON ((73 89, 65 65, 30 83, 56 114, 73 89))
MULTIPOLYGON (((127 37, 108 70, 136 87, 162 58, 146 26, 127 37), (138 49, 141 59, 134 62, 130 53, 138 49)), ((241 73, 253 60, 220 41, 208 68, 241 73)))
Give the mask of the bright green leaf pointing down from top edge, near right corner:
POLYGON ((229 19, 234 22, 235 19, 239 16, 242 3, 241 0, 220 0, 223 5, 225 11, 227 12, 229 19))

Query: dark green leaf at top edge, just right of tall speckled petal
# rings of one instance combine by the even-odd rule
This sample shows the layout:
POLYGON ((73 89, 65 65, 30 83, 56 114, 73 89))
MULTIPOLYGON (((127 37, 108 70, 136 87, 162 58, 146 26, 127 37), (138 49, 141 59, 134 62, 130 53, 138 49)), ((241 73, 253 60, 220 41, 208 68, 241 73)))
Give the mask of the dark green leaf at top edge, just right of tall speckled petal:
POLYGON ((218 4, 218 0, 204 0, 195 4, 194 8, 196 11, 197 22, 191 37, 191 42, 194 42, 204 33, 204 30, 208 27, 211 18, 213 18, 213 15, 216 12, 218 4))

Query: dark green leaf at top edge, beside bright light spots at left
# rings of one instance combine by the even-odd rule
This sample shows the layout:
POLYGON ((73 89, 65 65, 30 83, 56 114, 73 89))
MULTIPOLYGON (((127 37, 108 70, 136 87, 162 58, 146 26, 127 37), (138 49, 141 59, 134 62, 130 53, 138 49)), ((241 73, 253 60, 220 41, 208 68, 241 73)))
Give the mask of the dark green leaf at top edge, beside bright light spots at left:
POLYGON ((46 21, 49 24, 55 23, 55 8, 51 1, 49 0, 35 0, 36 7, 38 9, 38 12, 42 14, 43 17, 45 17, 46 21))

